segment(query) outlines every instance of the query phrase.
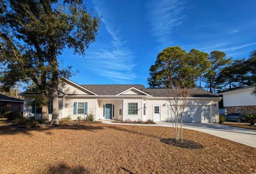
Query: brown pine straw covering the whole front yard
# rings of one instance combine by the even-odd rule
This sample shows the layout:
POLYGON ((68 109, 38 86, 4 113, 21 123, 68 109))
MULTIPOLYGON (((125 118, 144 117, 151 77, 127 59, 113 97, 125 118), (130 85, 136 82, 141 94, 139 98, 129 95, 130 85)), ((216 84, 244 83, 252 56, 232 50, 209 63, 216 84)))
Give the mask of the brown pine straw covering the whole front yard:
POLYGON ((173 128, 77 124, 17 128, 0 123, 0 173, 254 173, 256 149, 173 128))

